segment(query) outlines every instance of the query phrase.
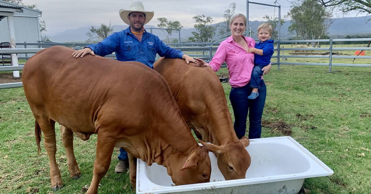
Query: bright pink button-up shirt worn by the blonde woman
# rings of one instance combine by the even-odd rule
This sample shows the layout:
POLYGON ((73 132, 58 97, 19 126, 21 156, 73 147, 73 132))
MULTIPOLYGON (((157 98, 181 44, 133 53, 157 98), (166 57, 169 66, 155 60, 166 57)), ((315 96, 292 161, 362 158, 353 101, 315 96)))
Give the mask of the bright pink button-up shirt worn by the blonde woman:
MULTIPOLYGON (((242 37, 245 38, 249 48, 255 47, 254 39, 242 37)), ((244 50, 237 42, 234 42, 232 36, 220 43, 209 64, 214 71, 218 71, 224 61, 227 63, 229 84, 232 87, 242 87, 249 83, 254 68, 254 53, 244 50)))

